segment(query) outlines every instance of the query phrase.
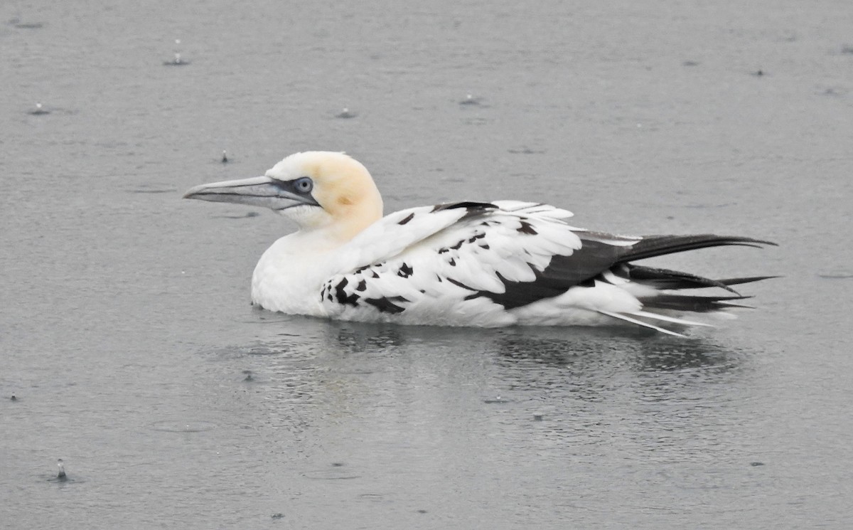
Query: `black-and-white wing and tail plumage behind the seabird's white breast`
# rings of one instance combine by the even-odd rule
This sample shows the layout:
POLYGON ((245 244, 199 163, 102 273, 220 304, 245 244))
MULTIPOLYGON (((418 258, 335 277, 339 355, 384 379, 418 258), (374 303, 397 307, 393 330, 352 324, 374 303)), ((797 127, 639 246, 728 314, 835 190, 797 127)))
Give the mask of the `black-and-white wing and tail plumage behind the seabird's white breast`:
POLYGON ((713 280, 632 263, 722 245, 734 236, 614 236, 579 229, 544 204, 458 202, 392 213, 338 255, 317 294, 329 317, 432 325, 600 324, 620 319, 677 335, 707 325, 681 315, 719 312, 745 297, 713 280), (683 294, 720 288, 724 295, 683 294))

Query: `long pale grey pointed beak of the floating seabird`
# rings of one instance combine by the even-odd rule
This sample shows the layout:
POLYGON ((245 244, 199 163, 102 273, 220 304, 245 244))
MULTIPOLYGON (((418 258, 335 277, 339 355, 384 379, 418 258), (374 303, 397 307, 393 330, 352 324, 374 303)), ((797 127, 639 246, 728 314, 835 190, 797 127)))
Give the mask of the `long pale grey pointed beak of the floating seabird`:
POLYGON ((233 202, 248 206, 284 210, 289 207, 320 206, 310 194, 299 193, 291 183, 269 177, 242 178, 209 184, 200 184, 187 190, 184 199, 200 201, 233 202))

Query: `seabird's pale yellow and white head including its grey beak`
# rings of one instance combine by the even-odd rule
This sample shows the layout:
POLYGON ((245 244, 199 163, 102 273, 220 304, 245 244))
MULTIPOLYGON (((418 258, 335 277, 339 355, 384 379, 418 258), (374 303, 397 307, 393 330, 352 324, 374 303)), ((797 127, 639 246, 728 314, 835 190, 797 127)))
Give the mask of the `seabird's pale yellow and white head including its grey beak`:
POLYGON ((291 154, 263 177, 201 184, 183 198, 267 207, 302 230, 328 228, 344 240, 382 217, 382 197, 368 170, 328 151, 291 154))

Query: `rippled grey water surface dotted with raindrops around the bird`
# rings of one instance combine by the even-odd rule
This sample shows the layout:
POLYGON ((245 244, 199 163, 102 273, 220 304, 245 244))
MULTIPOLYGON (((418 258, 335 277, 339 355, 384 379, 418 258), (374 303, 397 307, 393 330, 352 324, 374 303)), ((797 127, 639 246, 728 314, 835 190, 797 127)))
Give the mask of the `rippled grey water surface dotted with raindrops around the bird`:
POLYGON ((840 0, 0 3, 0 527, 849 527, 851 25, 840 0), (293 227, 180 197, 306 149, 363 161, 386 212, 547 201, 770 239, 659 265, 781 277, 688 339, 258 311, 293 227))

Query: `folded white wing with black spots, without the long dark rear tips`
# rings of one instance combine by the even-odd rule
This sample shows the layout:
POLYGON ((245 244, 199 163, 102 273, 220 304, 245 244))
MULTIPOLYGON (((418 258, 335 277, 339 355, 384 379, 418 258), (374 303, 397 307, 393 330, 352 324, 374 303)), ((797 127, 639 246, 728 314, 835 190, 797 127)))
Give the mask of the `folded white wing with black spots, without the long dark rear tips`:
POLYGON ((577 229, 566 222, 571 216, 519 201, 392 213, 341 249, 340 272, 322 288, 323 305, 340 318, 387 320, 406 312, 421 323, 453 323, 443 318, 476 313, 485 319, 480 325, 489 325, 507 318, 506 310, 590 281, 639 241, 577 229))

